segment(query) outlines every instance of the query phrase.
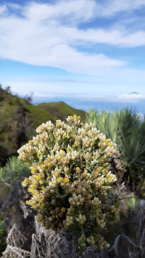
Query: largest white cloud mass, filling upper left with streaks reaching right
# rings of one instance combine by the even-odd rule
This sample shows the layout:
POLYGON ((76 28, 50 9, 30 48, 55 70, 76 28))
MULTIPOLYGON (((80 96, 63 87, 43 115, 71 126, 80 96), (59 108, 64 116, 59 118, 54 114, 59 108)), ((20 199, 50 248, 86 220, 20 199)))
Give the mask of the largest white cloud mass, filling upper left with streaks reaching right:
POLYGON ((141 46, 145 45, 145 32, 128 33, 117 28, 82 30, 78 25, 97 16, 110 16, 119 10, 139 8, 143 2, 132 0, 131 4, 130 0, 113 0, 101 6, 93 0, 58 1, 54 4, 28 2, 25 6, 11 5, 13 13, 5 13, 9 4, 7 7, 3 5, 0 57, 32 65, 59 67, 75 73, 97 75, 104 74, 105 70, 109 74, 126 62, 103 53, 81 52, 76 46, 96 43, 141 46), (18 8, 22 17, 14 13, 18 8))

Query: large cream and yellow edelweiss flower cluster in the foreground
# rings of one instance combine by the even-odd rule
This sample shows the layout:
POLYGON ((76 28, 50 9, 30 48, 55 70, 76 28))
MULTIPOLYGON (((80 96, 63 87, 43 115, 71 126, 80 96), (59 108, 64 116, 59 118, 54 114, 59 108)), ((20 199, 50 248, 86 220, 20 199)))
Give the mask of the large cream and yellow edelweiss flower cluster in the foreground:
POLYGON ((22 182, 32 194, 26 203, 39 211, 42 226, 72 231, 82 250, 102 250, 109 244, 100 232, 117 214, 107 202, 107 190, 117 180, 109 163, 116 144, 92 123, 83 128, 80 116, 69 116, 67 122, 43 123, 18 150, 32 173, 22 182))

